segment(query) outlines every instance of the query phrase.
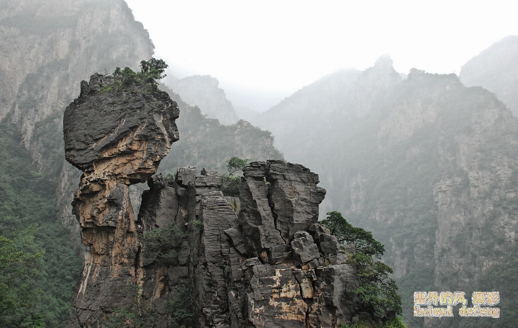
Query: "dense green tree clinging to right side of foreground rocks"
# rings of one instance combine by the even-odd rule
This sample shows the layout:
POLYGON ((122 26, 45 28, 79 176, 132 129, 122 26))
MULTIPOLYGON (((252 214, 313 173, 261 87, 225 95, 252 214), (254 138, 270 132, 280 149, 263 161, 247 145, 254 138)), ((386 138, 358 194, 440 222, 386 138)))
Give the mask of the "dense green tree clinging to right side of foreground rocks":
POLYGON ((340 242, 356 247, 349 264, 356 265, 360 286, 350 292, 359 307, 381 318, 382 322, 387 320, 390 312, 401 315, 401 297, 397 294, 396 282, 389 277, 393 271, 385 263, 375 260, 384 254, 384 246, 372 237, 371 232, 353 227, 340 212, 328 212, 322 223, 340 242))

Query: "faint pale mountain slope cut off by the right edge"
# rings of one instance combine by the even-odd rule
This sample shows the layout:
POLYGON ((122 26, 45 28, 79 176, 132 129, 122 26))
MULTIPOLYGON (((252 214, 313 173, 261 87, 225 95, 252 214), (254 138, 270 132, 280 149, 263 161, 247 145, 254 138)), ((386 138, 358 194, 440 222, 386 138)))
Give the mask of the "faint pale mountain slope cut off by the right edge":
POLYGON ((518 36, 507 36, 493 43, 461 69, 466 86, 479 85, 494 92, 511 111, 518 113, 518 36))

